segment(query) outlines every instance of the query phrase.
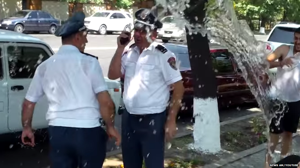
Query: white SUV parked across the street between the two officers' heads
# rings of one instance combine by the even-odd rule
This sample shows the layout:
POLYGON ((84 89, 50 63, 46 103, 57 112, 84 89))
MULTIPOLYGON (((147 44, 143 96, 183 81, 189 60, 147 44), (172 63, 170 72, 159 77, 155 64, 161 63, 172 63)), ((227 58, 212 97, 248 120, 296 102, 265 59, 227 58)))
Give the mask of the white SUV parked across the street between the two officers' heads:
POLYGON ((133 18, 128 12, 103 10, 85 18, 85 26, 101 35, 133 29, 133 18))

